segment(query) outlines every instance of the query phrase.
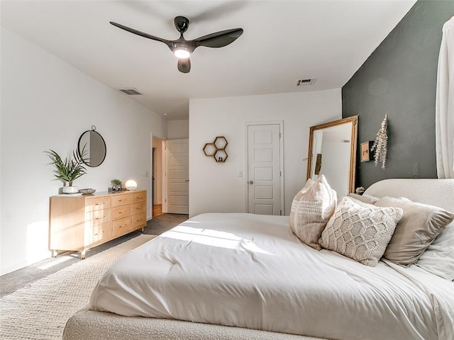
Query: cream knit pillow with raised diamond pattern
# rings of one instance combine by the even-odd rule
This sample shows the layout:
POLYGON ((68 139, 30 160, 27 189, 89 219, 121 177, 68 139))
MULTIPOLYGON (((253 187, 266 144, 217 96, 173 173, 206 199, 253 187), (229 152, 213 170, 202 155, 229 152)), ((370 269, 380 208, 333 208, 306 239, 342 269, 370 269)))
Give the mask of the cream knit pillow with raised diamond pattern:
POLYGON ((323 248, 375 267, 391 240, 400 208, 378 208, 345 197, 321 233, 323 248))

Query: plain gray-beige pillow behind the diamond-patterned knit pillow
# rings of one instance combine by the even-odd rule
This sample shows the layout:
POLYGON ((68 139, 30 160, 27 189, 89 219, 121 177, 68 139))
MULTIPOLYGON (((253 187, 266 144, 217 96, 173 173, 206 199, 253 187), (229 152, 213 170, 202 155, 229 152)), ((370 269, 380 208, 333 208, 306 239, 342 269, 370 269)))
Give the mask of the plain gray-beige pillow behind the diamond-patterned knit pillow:
POLYGON ((419 256, 454 219, 454 214, 442 208, 412 202, 407 198, 384 197, 378 207, 397 207, 404 210, 383 257, 402 266, 416 263, 419 256))

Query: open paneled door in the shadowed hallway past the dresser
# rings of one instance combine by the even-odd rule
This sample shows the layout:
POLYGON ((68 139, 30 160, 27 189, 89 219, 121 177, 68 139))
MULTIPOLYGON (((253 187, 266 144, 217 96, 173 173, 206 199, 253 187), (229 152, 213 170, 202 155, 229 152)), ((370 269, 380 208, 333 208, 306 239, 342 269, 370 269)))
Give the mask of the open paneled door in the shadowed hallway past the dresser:
POLYGON ((189 140, 167 140, 167 212, 189 214, 189 140))

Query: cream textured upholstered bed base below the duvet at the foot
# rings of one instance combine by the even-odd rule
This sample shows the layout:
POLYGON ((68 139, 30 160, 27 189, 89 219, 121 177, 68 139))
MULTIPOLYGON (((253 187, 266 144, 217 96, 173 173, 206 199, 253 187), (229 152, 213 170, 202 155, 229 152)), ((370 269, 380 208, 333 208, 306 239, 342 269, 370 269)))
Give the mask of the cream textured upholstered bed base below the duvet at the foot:
POLYGON ((121 315, 81 310, 67 322, 63 340, 326 340, 311 336, 259 331, 239 327, 201 324, 150 317, 121 315))

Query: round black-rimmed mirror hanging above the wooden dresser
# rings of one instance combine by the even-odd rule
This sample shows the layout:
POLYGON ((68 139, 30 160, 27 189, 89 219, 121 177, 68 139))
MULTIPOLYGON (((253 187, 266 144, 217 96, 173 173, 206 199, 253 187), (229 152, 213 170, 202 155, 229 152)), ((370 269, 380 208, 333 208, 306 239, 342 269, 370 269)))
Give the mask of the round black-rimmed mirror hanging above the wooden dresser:
POLYGON ((77 143, 79 156, 82 156, 82 150, 84 149, 84 163, 91 167, 101 165, 106 158, 106 142, 104 142, 104 138, 95 130, 96 127, 93 125, 92 130, 82 133, 77 143))

